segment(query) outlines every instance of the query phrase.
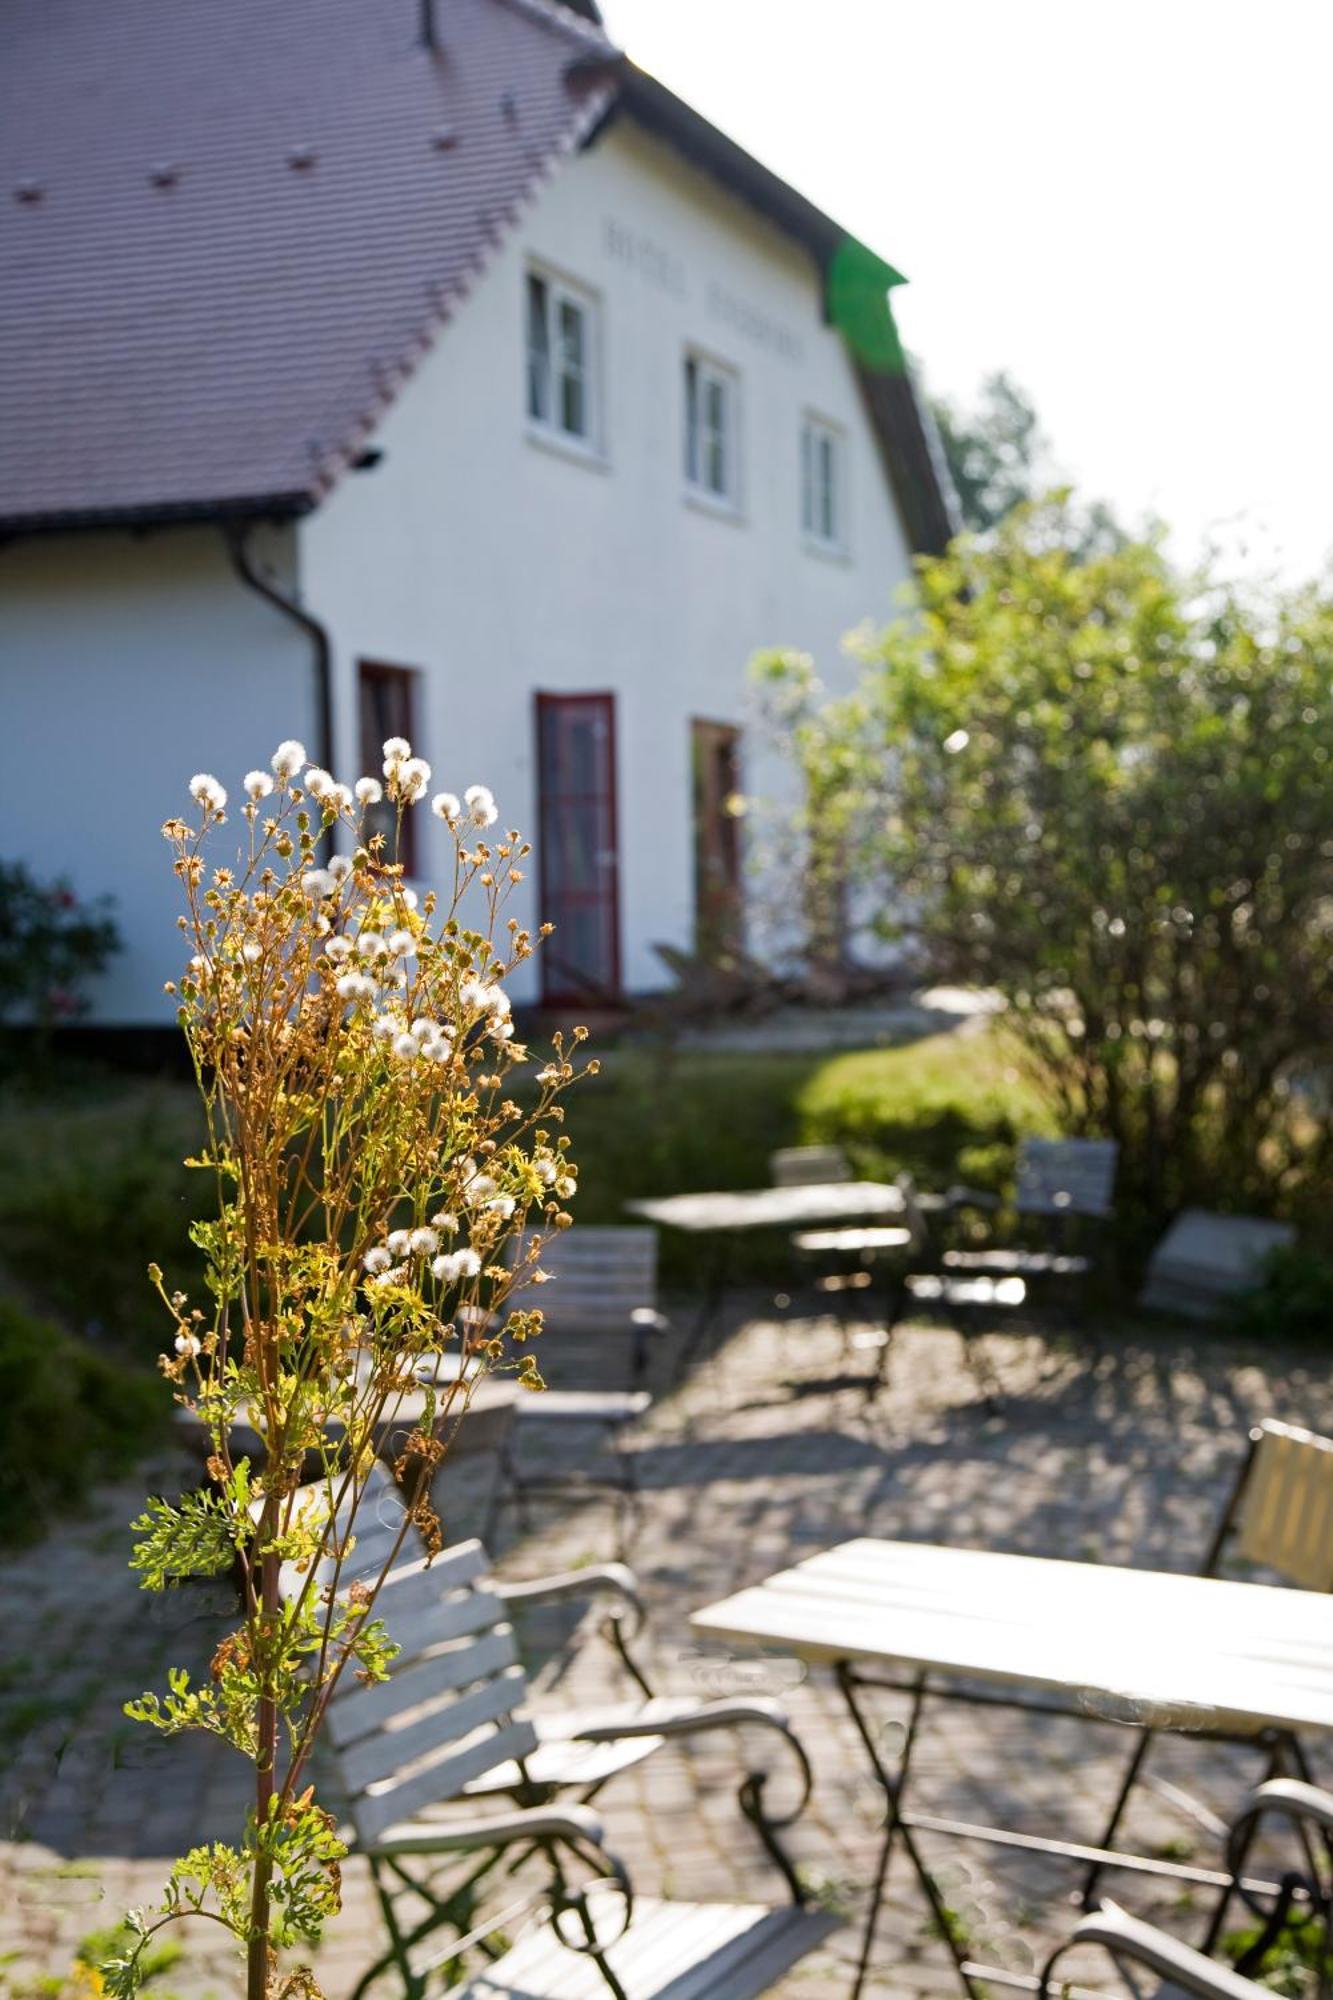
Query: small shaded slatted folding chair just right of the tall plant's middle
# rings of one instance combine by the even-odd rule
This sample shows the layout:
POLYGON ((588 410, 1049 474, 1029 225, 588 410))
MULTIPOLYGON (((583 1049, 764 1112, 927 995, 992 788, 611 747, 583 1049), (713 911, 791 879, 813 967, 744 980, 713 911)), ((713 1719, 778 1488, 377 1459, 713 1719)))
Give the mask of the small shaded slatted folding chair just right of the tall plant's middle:
MULTIPOLYGON (((520 1242, 516 1258, 526 1254, 520 1242)), ((618 1388, 544 1390, 524 1396, 516 1408, 512 1432, 500 1446, 500 1482, 486 1516, 490 1538, 506 1502, 528 1526, 528 1496, 536 1492, 608 1490, 620 1498, 620 1516, 636 1498, 634 1458, 620 1450, 620 1432, 652 1404, 644 1386, 652 1340, 666 1332, 669 1320, 656 1310, 656 1230, 642 1226, 562 1230, 542 1242, 540 1268, 552 1280, 530 1294, 540 1306, 552 1338, 562 1332, 606 1336, 608 1372, 620 1372, 618 1388), (582 1426, 600 1430, 610 1444, 602 1464, 544 1466, 530 1470, 532 1440, 540 1426, 582 1426), (524 1438, 526 1462, 524 1462, 524 1438)))

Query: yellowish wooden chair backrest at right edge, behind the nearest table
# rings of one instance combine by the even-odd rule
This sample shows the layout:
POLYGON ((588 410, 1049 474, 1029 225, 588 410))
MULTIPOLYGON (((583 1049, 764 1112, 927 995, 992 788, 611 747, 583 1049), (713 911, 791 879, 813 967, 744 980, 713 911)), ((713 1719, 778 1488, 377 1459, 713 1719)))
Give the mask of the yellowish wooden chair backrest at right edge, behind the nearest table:
POLYGON ((1305 1590, 1333 1590, 1333 1438, 1259 1424, 1235 1512, 1239 1556, 1305 1590))

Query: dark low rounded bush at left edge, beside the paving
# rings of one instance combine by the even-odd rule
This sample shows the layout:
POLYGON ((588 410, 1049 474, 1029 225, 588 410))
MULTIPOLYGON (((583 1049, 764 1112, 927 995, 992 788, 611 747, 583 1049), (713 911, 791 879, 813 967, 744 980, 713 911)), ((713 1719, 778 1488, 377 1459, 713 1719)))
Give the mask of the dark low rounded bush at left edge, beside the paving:
POLYGON ((0 1542, 30 1540, 128 1470, 166 1408, 156 1376, 0 1298, 0 1542))

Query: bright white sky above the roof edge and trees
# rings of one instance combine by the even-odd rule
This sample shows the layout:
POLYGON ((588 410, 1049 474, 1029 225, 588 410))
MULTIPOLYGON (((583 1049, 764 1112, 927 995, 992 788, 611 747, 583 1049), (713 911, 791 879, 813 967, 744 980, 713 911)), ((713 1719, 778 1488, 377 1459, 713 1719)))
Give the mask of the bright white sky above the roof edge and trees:
POLYGON ((1009 370, 1061 470, 1193 560, 1333 552, 1333 0, 602 0, 911 280, 931 390, 1009 370))

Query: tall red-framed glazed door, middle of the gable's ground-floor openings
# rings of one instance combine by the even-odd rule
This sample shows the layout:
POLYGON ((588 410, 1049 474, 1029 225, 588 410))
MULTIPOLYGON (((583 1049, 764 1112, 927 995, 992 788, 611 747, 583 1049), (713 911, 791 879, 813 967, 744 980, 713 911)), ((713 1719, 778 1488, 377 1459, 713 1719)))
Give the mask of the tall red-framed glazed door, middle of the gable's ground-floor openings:
POLYGON ((620 990, 616 730, 612 694, 536 696, 542 998, 610 1002, 620 990))

